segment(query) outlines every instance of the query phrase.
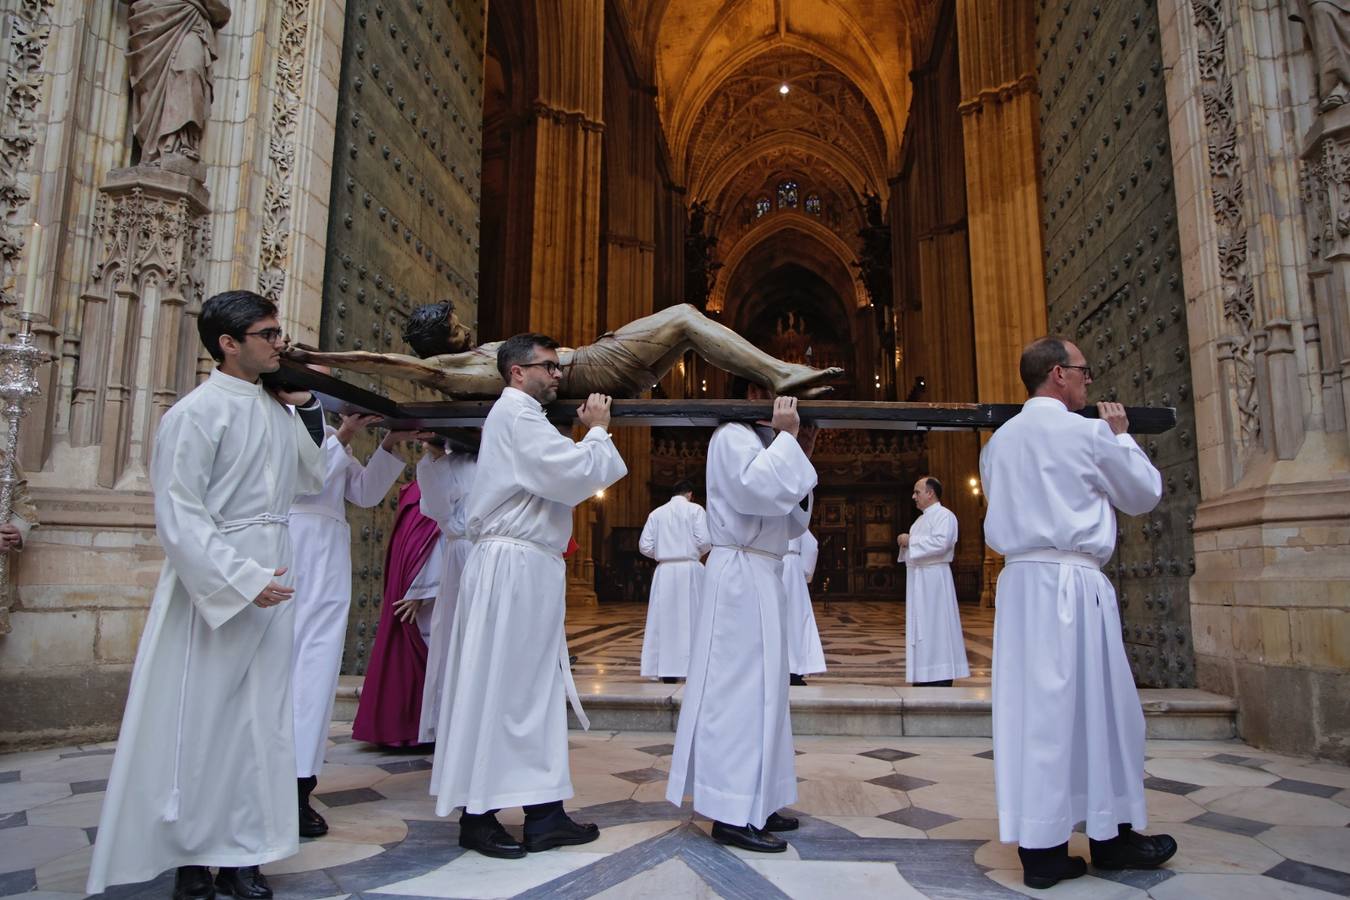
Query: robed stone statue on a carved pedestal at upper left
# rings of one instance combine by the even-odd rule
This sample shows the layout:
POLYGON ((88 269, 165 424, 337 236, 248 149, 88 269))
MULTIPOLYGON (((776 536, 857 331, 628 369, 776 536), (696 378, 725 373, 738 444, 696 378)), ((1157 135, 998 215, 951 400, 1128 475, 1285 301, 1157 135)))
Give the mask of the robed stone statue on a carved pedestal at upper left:
POLYGON ((174 167, 200 159, 211 113, 216 31, 230 22, 225 0, 130 0, 127 61, 132 131, 140 165, 174 167))

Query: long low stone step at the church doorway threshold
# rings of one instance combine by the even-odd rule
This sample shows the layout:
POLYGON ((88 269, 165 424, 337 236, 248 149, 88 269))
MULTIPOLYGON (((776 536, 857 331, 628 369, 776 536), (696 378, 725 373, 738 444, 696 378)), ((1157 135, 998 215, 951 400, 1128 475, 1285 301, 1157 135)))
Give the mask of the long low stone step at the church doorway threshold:
MULTIPOLYGON (((362 679, 343 676, 333 719, 356 715, 362 679)), ((593 730, 674 731, 683 684, 576 679, 582 707, 593 730)), ((987 687, 911 688, 878 684, 809 684, 788 692, 794 734, 867 737, 990 737, 991 691, 987 687)), ((1238 706, 1208 691, 1139 690, 1148 737, 1165 741, 1223 741, 1237 737, 1238 706)), ((568 726, 580 727, 571 710, 568 726)))

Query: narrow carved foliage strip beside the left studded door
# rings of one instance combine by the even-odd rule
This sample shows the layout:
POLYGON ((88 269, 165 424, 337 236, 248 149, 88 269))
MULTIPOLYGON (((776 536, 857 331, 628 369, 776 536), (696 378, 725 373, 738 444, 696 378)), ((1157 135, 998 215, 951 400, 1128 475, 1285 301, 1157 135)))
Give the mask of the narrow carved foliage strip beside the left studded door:
POLYGON ((258 293, 281 300, 290 263, 290 204, 294 189, 296 132, 305 84, 305 40, 309 0, 285 0, 271 94, 267 136, 267 186, 263 190, 262 246, 258 250, 258 293))

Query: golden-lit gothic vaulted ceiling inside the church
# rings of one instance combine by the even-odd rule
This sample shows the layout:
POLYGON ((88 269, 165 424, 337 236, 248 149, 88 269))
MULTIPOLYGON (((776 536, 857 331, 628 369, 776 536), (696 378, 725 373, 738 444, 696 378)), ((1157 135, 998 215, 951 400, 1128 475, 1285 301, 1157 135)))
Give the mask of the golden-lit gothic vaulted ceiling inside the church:
MULTIPOLYGON (((706 202, 725 262, 710 308, 747 267, 814 260, 842 305, 863 197, 895 174, 913 45, 936 0, 620 0, 656 82, 672 174, 706 202), (772 221, 780 217, 783 221, 772 221), (756 252, 772 240, 774 254, 756 252), (741 271, 738 271, 741 270, 741 271)), ((767 275, 768 273, 760 273, 767 275)), ((733 309, 728 309, 733 313, 733 309)))

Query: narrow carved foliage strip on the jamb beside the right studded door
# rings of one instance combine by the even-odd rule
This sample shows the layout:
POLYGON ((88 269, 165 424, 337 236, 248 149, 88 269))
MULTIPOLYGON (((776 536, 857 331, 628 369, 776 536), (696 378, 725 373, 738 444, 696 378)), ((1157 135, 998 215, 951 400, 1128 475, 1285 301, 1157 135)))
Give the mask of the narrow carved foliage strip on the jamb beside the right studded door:
POLYGON ((1191 0, 1200 63, 1206 143, 1210 154, 1210 198, 1218 225, 1219 274, 1223 279, 1223 318, 1230 328, 1223 379, 1227 405, 1235 414, 1228 422, 1243 449, 1261 441, 1261 402, 1256 363, 1256 291, 1247 269, 1247 225, 1243 213, 1243 178, 1238 159, 1238 123, 1228 66, 1227 0, 1191 0))

